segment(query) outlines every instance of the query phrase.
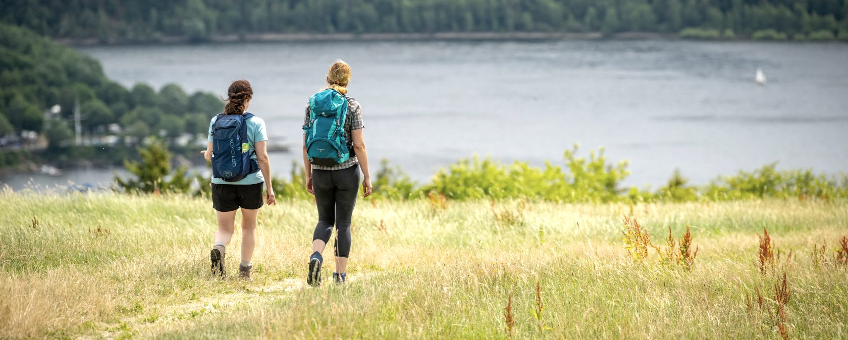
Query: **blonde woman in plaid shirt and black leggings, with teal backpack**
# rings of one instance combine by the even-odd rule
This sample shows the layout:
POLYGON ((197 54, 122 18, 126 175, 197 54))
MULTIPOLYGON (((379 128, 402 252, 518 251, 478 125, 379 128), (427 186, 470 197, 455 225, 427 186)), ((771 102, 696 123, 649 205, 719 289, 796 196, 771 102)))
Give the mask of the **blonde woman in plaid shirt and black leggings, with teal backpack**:
POLYGON ((315 93, 304 115, 304 167, 306 189, 315 195, 318 224, 312 236, 312 255, 306 281, 321 285, 321 253, 336 226, 333 281, 342 284, 350 254, 350 218, 359 191, 359 172, 363 197, 371 195, 368 153, 362 136, 362 108, 347 97, 350 66, 336 60, 326 74, 326 87, 315 93))

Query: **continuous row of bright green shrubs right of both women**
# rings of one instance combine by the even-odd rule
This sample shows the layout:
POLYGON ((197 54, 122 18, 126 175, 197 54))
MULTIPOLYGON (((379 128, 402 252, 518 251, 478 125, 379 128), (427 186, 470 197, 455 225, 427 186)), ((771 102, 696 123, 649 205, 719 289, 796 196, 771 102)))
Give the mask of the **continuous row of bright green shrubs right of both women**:
MULTIPOLYGON (((848 175, 813 174, 812 170, 776 170, 776 163, 735 176, 719 176, 706 186, 689 186, 675 170, 656 192, 636 187, 620 189, 629 175, 627 162, 609 164, 603 148, 590 152, 589 159, 577 158, 577 148, 565 153, 566 168, 546 163, 533 167, 524 162, 508 166, 491 159, 462 159, 440 170, 432 183, 415 187, 399 169, 385 172, 375 192, 385 198, 444 196, 450 199, 529 198, 554 202, 693 202, 761 198, 830 199, 848 198, 848 175)), ((388 162, 383 162, 388 168, 388 162)), ((377 188, 377 185, 375 185, 377 188)))

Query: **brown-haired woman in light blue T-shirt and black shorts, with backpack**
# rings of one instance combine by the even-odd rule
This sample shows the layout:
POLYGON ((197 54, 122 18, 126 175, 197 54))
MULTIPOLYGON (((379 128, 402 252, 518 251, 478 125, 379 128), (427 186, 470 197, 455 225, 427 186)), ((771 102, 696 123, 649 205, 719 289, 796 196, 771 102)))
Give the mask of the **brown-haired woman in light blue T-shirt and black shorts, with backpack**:
POLYGON ((250 271, 256 245, 256 218, 263 201, 276 205, 271 186, 265 121, 247 112, 254 90, 245 80, 227 90, 224 112, 209 122, 209 144, 204 153, 212 161, 212 207, 218 218, 215 245, 209 256, 213 274, 226 276, 226 245, 235 229, 236 211, 242 210, 242 257, 238 277, 253 281, 250 271), (230 155, 232 154, 232 159, 230 155), (226 166, 231 165, 230 168, 226 166), (265 183, 263 199, 262 186, 265 183))

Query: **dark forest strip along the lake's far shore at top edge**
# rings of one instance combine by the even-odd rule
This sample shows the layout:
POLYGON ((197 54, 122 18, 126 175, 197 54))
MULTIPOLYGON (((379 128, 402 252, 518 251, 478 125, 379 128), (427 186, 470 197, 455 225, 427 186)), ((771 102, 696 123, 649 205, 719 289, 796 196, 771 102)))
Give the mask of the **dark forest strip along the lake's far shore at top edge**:
POLYGON ((848 39, 848 0, 7 0, 57 38, 155 42, 257 33, 660 32, 848 39))

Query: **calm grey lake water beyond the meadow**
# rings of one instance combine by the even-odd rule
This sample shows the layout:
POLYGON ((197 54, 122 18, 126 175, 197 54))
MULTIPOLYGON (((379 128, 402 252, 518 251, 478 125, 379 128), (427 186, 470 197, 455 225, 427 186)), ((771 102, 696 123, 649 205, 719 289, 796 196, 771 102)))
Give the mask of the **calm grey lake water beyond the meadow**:
MULTIPOLYGON (((306 100, 334 59, 353 68, 349 95, 362 104, 372 174, 389 159, 428 181, 473 154, 562 164, 575 142, 583 155, 603 146, 609 159, 629 159, 626 184, 639 187, 664 184, 675 168, 699 184, 774 161, 780 169, 848 171, 848 44, 279 42, 81 51, 126 86, 176 82, 224 95, 231 81, 248 79, 249 110, 297 150, 271 155, 282 175, 300 159, 306 100), (754 81, 757 67, 766 86, 754 81)), ((77 172, 54 179, 80 182, 77 172)), ((15 187, 21 178, 29 176, 0 181, 15 187)))

